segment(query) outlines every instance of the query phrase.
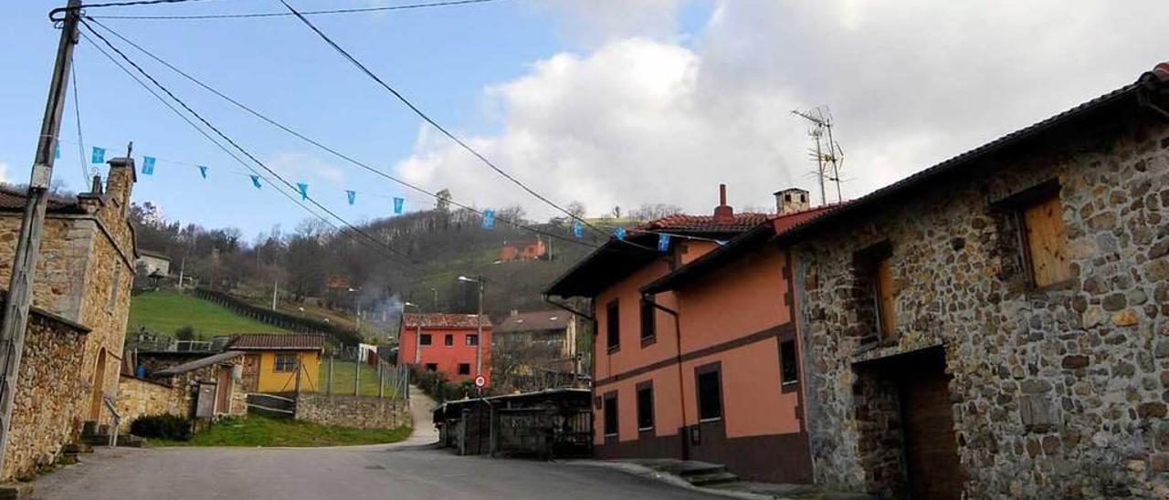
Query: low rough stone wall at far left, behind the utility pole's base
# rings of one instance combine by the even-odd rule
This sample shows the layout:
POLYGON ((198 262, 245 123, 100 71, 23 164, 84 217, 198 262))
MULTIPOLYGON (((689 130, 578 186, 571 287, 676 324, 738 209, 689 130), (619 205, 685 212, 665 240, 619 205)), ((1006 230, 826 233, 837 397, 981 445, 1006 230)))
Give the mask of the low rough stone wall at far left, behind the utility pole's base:
MULTIPOLYGON (((0 301, 2 304, 2 301, 0 301)), ((78 367, 87 329, 33 311, 25 334, 12 426, 0 481, 22 478, 51 464, 81 429, 78 367)))

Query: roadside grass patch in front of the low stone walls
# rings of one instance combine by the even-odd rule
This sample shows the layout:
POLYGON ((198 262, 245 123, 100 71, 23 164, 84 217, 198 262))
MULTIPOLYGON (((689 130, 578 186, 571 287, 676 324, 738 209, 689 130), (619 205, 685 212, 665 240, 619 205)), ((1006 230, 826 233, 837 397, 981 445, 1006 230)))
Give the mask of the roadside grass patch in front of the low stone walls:
POLYGON ((191 440, 151 439, 158 446, 341 446, 396 443, 410 436, 409 426, 397 429, 353 429, 320 425, 251 414, 247 418, 226 418, 191 440))

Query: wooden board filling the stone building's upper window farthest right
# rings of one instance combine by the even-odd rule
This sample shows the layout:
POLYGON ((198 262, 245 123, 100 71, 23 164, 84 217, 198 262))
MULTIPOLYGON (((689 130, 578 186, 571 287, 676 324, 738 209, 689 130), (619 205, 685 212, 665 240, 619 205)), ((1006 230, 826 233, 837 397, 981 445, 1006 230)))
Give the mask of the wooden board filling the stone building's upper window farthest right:
POLYGON ((1036 286, 1047 286, 1072 278, 1067 262, 1067 228, 1059 199, 1053 197, 1023 210, 1028 255, 1036 286))

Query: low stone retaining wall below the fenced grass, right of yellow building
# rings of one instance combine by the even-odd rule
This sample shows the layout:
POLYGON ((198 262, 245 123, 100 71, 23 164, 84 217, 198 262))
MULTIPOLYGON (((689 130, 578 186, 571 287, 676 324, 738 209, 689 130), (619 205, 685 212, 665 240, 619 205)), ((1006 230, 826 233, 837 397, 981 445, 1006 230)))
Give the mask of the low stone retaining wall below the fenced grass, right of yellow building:
POLYGON ((358 429, 394 429, 410 424, 406 401, 302 393, 296 419, 358 429))

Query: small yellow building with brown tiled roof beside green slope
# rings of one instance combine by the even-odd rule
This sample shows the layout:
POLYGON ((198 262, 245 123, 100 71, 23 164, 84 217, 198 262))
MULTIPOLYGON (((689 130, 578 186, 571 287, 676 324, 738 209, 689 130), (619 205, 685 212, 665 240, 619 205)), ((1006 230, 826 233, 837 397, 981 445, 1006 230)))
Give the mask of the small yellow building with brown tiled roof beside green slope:
POLYGON ((243 388, 248 393, 319 390, 317 374, 325 352, 325 335, 245 333, 227 346, 242 350, 243 388))

